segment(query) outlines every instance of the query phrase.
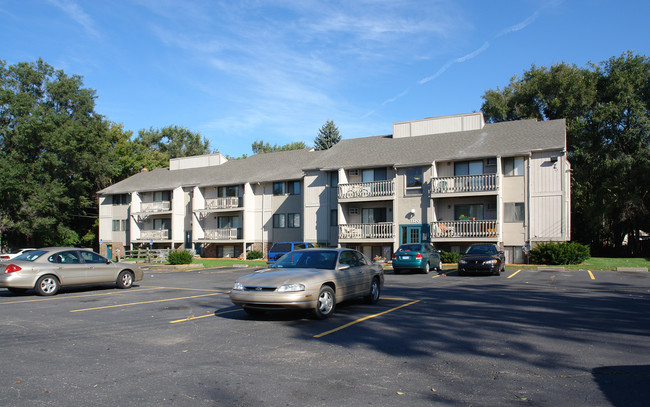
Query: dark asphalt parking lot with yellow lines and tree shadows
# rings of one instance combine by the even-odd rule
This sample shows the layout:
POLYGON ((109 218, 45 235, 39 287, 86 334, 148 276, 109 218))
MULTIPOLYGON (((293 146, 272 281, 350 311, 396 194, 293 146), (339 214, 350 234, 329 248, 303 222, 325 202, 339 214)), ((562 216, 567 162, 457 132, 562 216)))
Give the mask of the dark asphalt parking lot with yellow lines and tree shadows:
POLYGON ((647 272, 388 271, 318 321, 233 306, 250 271, 0 290, 0 405, 648 405, 647 272))

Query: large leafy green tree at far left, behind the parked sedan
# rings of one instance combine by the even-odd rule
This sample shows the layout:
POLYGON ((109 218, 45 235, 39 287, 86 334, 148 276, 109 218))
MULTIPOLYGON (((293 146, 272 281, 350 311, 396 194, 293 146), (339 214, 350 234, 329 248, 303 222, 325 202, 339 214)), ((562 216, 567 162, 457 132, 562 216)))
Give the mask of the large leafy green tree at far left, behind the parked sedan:
POLYGON ((76 245, 115 175, 95 91, 43 60, 0 61, 0 233, 14 246, 76 245))

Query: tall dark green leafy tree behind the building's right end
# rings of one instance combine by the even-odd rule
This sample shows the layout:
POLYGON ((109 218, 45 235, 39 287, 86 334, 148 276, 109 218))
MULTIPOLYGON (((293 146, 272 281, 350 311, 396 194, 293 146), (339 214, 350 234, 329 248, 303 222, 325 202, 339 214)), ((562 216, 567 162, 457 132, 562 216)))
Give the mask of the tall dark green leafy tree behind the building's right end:
POLYGON ((594 249, 636 249, 650 231, 650 60, 631 52, 586 68, 533 66, 483 95, 489 122, 565 118, 572 234, 594 249))

